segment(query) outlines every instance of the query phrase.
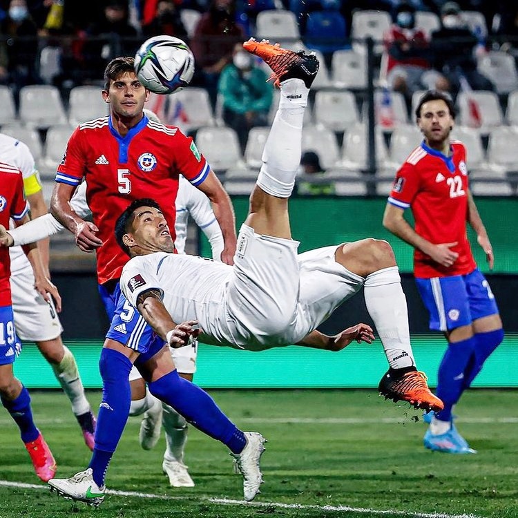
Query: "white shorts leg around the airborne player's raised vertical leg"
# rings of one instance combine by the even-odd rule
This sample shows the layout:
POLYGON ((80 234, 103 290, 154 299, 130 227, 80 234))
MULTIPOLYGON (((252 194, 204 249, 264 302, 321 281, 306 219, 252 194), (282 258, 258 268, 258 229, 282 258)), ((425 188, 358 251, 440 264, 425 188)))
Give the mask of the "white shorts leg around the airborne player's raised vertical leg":
POLYGON ((227 311, 248 329, 277 334, 298 300, 298 242, 260 236, 242 225, 227 289, 227 311))

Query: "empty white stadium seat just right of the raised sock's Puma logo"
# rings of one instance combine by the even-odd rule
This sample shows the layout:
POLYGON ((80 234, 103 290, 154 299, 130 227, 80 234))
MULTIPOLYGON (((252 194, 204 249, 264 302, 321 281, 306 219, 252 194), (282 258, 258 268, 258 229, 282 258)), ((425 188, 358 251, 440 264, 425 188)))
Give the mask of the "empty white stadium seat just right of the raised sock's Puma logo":
POLYGON ((346 131, 360 122, 356 98, 347 90, 320 90, 315 94, 315 122, 332 131, 346 131))

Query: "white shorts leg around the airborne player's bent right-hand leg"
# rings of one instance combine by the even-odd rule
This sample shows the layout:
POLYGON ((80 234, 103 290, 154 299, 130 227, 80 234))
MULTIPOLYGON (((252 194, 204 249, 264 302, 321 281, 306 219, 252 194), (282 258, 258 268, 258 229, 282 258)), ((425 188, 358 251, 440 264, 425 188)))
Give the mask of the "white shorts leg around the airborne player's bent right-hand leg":
POLYGON ((296 327, 300 327, 301 332, 315 329, 363 287, 361 276, 336 262, 338 246, 310 250, 298 256, 300 291, 296 327))

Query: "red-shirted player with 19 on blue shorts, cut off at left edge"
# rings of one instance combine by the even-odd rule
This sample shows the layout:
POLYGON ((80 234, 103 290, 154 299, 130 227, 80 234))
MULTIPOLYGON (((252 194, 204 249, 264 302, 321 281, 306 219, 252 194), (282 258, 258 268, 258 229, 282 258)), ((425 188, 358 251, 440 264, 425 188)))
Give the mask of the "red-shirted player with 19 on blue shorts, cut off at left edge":
MULTIPOLYGON (((0 224, 8 228, 10 218, 17 225, 28 221, 28 204, 23 194, 21 171, 0 163, 0 224)), ((35 289, 46 300, 49 294, 54 296, 59 311, 59 294, 44 274, 36 245, 26 245, 24 251, 34 269, 35 289)), ((29 393, 12 372, 12 364, 20 352, 21 344, 15 331, 9 277, 9 249, 0 247, 0 398, 20 429, 21 440, 30 454, 37 476, 46 482, 54 476, 56 462, 32 419, 29 393)))

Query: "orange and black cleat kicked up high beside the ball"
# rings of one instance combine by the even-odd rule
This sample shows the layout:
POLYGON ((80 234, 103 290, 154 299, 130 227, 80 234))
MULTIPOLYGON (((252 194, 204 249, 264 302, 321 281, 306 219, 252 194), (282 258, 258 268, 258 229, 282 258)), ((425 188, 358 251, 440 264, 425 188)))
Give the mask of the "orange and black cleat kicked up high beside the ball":
POLYGON ((245 41, 243 48, 265 61, 273 72, 271 79, 275 79, 276 86, 287 79, 302 79, 310 88, 318 72, 318 59, 304 50, 294 52, 279 44, 272 45, 267 39, 256 41, 253 38, 245 41))

